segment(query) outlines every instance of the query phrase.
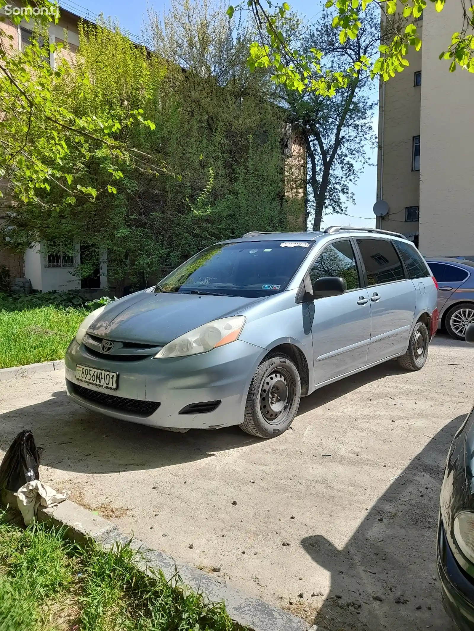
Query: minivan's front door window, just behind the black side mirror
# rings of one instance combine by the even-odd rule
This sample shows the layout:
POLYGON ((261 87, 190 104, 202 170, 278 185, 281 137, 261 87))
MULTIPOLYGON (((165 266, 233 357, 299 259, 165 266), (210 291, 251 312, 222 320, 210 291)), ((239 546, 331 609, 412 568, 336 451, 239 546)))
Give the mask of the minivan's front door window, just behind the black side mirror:
POLYGON ((310 269, 311 284, 323 276, 340 276, 348 290, 360 287, 355 254, 349 240, 327 245, 310 269))

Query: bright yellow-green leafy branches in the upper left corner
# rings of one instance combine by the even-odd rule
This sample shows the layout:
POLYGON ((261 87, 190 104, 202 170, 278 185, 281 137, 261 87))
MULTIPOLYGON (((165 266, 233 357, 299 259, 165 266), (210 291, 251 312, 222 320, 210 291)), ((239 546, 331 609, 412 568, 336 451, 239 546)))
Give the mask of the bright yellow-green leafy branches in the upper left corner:
POLYGON ((0 26, 0 177, 8 182, 9 193, 25 203, 40 203, 38 192, 54 184, 63 190, 66 203, 75 204, 78 198, 94 201, 100 191, 113 193, 124 165, 134 163, 155 174, 161 172, 162 165, 152 156, 117 138, 123 125, 151 124, 139 109, 131 111, 126 121, 118 121, 104 112, 94 117, 76 115, 65 100, 58 99, 55 86, 63 80, 68 64, 63 60, 51 68, 49 55, 59 52, 61 45, 45 43, 49 42, 47 26, 58 21, 58 6, 39 0, 12 9, 0 0, 0 8, 4 9, 0 25, 7 19, 18 25, 34 18, 35 28, 30 45, 16 51, 13 36, 0 26), (106 175, 100 191, 94 182, 85 185, 64 168, 71 151, 82 160, 96 160, 106 175))

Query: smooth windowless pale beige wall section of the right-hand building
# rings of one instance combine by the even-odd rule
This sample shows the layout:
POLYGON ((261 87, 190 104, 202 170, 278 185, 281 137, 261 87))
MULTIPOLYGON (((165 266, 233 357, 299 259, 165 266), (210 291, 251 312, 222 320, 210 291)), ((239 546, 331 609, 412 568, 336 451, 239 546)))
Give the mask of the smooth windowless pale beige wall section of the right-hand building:
POLYGON ((461 4, 425 11, 421 106, 420 249, 474 257, 474 75, 439 61, 462 25, 461 4))

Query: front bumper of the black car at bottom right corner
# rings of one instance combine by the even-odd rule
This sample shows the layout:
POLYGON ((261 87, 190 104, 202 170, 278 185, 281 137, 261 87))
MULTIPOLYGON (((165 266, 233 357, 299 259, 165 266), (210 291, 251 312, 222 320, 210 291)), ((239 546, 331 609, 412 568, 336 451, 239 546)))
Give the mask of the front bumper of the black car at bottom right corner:
POLYGON ((437 545, 438 575, 444 608, 461 631, 474 629, 474 579, 461 569, 449 548, 442 519, 437 545))

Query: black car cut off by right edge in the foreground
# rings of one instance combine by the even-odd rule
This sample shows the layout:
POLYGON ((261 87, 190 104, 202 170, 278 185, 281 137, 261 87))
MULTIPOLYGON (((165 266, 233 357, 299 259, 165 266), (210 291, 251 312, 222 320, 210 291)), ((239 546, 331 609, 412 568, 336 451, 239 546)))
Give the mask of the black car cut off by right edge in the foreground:
MULTIPOLYGON (((474 343, 474 324, 466 330, 474 343)), ((474 629, 474 408, 454 436, 441 487, 437 564, 447 613, 474 629)))

